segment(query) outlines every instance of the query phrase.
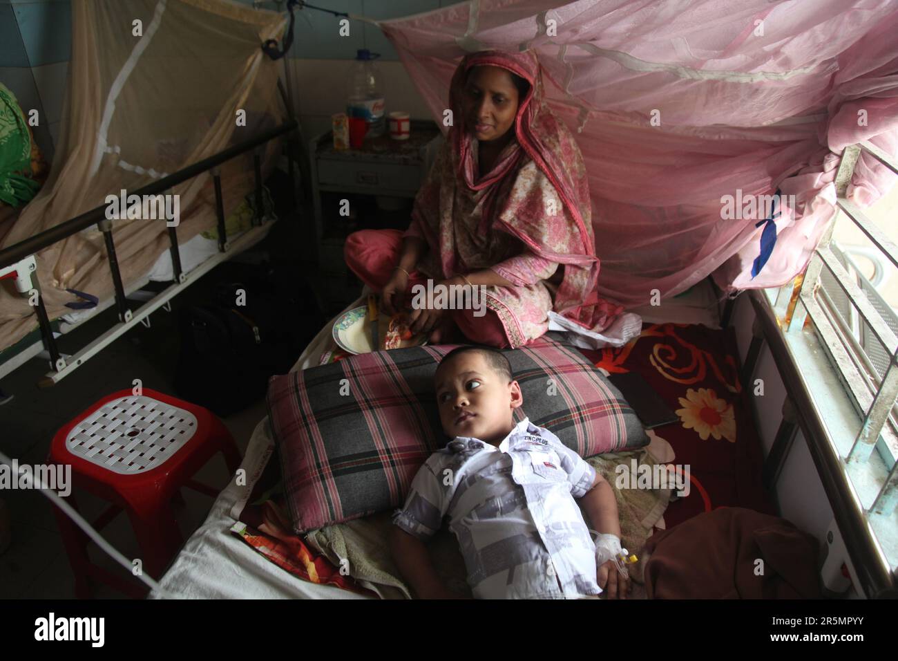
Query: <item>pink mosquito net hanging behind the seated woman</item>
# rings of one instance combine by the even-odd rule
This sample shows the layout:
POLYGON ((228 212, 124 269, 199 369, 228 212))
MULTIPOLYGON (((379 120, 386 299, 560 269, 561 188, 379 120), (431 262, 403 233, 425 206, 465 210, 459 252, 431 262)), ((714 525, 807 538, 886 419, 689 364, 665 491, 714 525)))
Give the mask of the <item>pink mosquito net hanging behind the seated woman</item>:
MULTIPOLYGON (((466 52, 535 49, 589 174, 599 292, 624 305, 711 273, 729 291, 784 284, 834 216, 833 152, 898 147, 894 0, 474 0, 376 24, 440 120, 466 52), (770 223, 739 202, 777 190, 794 208, 770 210, 758 260, 770 223)), ((863 155, 847 196, 893 184, 863 155)))

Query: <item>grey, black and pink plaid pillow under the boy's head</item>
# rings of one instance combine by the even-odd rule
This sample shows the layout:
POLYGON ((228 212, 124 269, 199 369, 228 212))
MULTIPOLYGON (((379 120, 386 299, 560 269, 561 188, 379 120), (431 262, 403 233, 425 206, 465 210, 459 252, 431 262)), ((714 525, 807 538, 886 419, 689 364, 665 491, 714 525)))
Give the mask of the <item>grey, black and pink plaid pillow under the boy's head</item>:
MULTIPOLYGON (((405 500, 418 468, 447 439, 434 372, 456 345, 363 353, 269 381, 269 417, 297 533, 405 500)), ((621 392, 582 353, 543 335, 504 351, 530 418, 589 457, 648 443, 621 392)))

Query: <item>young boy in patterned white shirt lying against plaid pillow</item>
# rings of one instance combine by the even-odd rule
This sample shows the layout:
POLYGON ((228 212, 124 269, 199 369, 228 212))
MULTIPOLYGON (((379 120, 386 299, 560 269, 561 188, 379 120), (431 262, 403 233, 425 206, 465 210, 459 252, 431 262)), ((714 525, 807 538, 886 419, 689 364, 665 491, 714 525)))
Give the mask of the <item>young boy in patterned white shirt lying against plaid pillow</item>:
POLYGON ((524 403, 496 349, 462 346, 436 369, 440 420, 453 438, 434 452, 392 516, 390 545, 419 598, 461 598, 436 575, 424 545, 449 518, 479 599, 626 598, 615 566, 621 528, 612 487, 549 430, 513 411, 524 403), (593 542, 583 504, 594 529, 593 542), (596 570, 596 567, 598 569, 596 570))

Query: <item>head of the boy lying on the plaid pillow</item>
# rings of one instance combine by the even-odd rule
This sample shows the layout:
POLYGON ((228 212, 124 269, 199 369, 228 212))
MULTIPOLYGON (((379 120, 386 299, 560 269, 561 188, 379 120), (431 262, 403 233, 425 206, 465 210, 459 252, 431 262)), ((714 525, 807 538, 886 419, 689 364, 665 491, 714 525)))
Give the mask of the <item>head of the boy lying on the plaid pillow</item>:
POLYGON ((440 422, 450 438, 471 436, 496 445, 515 427, 513 411, 524 403, 508 359, 489 346, 446 353, 434 385, 440 422))

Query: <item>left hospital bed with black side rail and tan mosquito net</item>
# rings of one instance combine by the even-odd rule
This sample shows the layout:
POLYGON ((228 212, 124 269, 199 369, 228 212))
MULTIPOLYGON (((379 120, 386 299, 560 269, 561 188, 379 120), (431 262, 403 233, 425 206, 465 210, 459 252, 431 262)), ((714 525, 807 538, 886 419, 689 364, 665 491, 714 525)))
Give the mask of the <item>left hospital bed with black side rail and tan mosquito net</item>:
MULTIPOLYGON (((272 12, 261 3, 150 4, 153 28, 139 49, 115 39, 115 26, 130 22, 133 8, 73 6, 53 169, 21 210, 0 213, 0 245, 7 246, 0 250, 0 278, 12 276, 18 291, 4 282, 0 292, 9 306, 0 319, 0 378, 45 353, 51 370, 44 384, 57 382, 136 323, 148 325, 151 312, 269 232, 263 174, 277 158, 272 141, 299 133, 291 67, 280 48, 293 41, 293 22, 287 27, 283 6, 272 12), (96 50, 98 41, 108 48, 96 50), (110 219, 109 205, 92 208, 125 189, 129 199, 144 197, 145 210, 147 196, 180 199, 180 225, 160 230, 131 223, 130 210, 128 219, 110 219), (256 213, 238 236, 225 214, 247 193, 256 213), (194 237, 216 220, 215 237, 194 237), (10 245, 11 237, 19 243, 10 245), (45 289, 35 302, 39 281, 45 289), (151 281, 172 284, 152 299, 150 292, 137 293, 151 281), (75 298, 83 294, 90 298, 86 306, 75 298), (134 299, 143 305, 134 306, 134 299), (119 324, 75 355, 59 352, 58 335, 113 306, 119 324)), ((291 192, 302 142, 286 152, 291 192)))

